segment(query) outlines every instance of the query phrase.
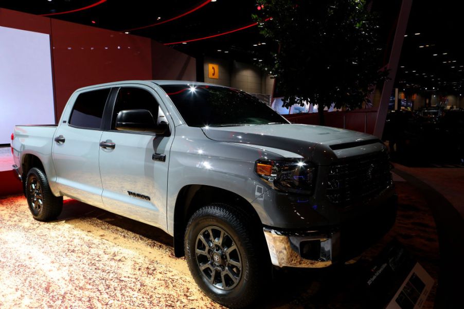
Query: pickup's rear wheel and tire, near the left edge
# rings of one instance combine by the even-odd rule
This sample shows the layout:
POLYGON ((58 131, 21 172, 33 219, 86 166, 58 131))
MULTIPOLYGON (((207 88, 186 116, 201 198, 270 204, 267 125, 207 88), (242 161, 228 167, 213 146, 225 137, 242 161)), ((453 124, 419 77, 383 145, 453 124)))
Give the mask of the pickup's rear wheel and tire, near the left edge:
POLYGON ((32 217, 38 221, 55 220, 63 208, 63 196, 51 193, 47 176, 38 168, 32 168, 26 178, 26 198, 32 217))

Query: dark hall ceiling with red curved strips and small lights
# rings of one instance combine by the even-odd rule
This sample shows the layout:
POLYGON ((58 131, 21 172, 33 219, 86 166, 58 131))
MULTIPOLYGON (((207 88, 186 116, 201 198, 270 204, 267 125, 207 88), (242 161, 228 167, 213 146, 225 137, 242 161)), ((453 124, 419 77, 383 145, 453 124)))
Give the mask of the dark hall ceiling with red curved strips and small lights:
MULTIPOLYGON (((461 55, 464 24, 460 21, 460 10, 455 3, 451 0, 413 1, 395 81, 398 87, 419 90, 427 88, 427 91, 435 87, 435 90, 461 92, 464 77, 464 57, 461 55)), ((390 8, 395 5, 399 6, 399 1, 374 0, 373 8, 380 8, 384 16, 396 15, 397 9, 390 8)), ((269 55, 270 51, 277 50, 275 43, 260 36, 257 26, 250 26, 254 24, 252 14, 257 11, 257 2, 254 0, 15 0, 1 1, 0 7, 128 31, 164 44, 179 42, 170 46, 197 58, 206 54, 253 63, 269 55), (213 38, 190 41, 246 26, 250 27, 213 38)), ((396 16, 390 16, 391 21, 395 19, 396 16)), ((393 31, 388 23, 384 23, 384 27, 387 46, 393 31)))

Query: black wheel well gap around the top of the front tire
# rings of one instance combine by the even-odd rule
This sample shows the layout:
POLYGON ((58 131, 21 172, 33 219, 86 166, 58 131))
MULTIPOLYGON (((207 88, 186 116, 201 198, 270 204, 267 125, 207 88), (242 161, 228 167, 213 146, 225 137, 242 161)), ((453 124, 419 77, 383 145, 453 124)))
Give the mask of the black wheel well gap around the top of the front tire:
POLYGON ((224 203, 241 209, 253 222, 261 224, 258 213, 245 198, 237 193, 207 185, 187 185, 177 194, 174 207, 174 254, 183 257, 184 232, 191 215, 202 206, 211 203, 224 203))

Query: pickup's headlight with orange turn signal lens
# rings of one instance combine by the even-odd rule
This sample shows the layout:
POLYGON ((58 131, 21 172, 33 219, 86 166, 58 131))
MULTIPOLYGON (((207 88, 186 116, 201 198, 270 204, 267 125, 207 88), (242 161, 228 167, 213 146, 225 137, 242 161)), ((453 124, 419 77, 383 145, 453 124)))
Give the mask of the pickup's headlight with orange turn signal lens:
POLYGON ((255 172, 273 188, 293 193, 312 194, 316 169, 311 162, 289 160, 257 160, 255 172))

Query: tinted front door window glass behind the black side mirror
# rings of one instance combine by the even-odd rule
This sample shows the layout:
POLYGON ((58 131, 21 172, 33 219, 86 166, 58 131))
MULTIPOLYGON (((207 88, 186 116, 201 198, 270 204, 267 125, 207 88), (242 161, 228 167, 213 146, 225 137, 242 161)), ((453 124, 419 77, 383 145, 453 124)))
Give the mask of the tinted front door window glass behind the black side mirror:
MULTIPOLYGON (((141 88, 123 87, 119 89, 114 105, 111 130, 115 130, 118 113, 124 110, 147 110, 153 116, 154 121, 158 119, 158 123, 159 117, 164 117, 162 113, 159 113, 159 105, 153 95, 141 88)), ((147 132, 151 132, 150 129, 147 129, 147 132)))

